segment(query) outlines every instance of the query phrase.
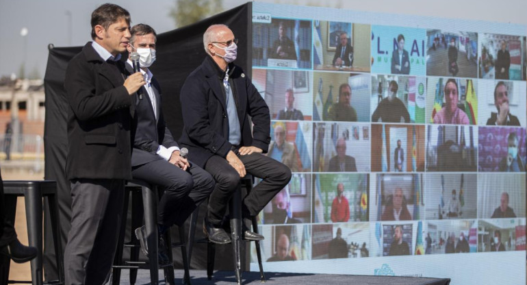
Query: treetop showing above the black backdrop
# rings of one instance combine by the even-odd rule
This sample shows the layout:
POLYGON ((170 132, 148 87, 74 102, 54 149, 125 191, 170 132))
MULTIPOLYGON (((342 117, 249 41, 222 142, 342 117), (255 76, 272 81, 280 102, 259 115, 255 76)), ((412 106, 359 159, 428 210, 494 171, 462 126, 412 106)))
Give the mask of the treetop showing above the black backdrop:
POLYGON ((223 0, 176 0, 168 16, 174 18, 176 27, 183 27, 220 12, 223 0))

